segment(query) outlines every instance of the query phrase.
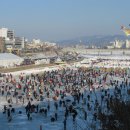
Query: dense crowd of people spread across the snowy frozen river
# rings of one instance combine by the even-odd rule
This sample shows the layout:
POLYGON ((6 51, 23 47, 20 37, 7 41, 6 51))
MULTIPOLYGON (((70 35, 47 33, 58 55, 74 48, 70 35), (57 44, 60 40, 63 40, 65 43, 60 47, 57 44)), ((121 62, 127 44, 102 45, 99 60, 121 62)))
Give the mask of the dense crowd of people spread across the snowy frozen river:
POLYGON ((64 130, 70 120, 80 125, 78 119, 89 127, 90 123, 96 127, 99 115, 111 112, 113 99, 127 101, 129 78, 125 69, 105 68, 63 68, 31 75, 3 75, 0 96, 7 102, 3 105, 3 114, 11 122, 17 106, 21 105, 24 110, 18 114, 26 113, 29 121, 35 118, 32 114, 35 113, 57 122, 61 120, 59 110, 62 109, 64 130))

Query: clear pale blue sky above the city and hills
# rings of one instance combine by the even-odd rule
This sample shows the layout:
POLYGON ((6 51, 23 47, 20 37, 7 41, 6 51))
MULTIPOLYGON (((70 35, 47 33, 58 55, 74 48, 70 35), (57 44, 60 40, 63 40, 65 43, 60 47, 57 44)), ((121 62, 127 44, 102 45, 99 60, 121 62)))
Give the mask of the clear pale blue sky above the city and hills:
POLYGON ((0 0, 0 28, 28 39, 124 35, 129 24, 130 0, 0 0))

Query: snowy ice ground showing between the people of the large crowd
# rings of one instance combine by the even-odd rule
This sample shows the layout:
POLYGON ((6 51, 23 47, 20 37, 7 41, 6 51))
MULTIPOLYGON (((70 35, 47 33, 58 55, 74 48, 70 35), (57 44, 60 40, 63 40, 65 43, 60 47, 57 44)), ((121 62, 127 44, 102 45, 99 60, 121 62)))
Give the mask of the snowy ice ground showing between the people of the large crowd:
MULTIPOLYGON (((113 62, 113 61, 112 61, 113 62)), ((112 62, 108 61, 106 64, 110 65, 112 62)), ((125 65, 125 63, 122 63, 125 65)), ((102 65, 101 65, 102 66, 102 65)), ((111 66, 111 65, 110 65, 111 66)), ((67 101, 67 99, 69 99, 69 103, 71 104, 71 102, 73 102, 74 97, 72 97, 71 92, 66 91, 65 86, 68 87, 68 89, 70 88, 70 91, 73 89, 73 83, 71 83, 71 81, 69 81, 68 85, 64 84, 65 81, 65 76, 63 76, 62 78, 60 77, 62 74, 64 75, 72 75, 72 77, 74 77, 74 74, 76 74, 76 79, 74 79, 76 81, 76 85, 74 85, 74 87, 76 87, 77 89, 80 90, 80 93, 83 93, 83 99, 80 98, 79 103, 76 100, 76 105, 74 106, 75 110, 77 111, 78 115, 76 117, 75 122, 73 122, 73 114, 69 113, 68 117, 67 117, 67 122, 66 122, 66 130, 94 130, 94 128, 96 130, 100 129, 100 121, 98 119, 94 119, 94 113, 97 113, 98 109, 95 107, 96 101, 98 102, 99 106, 101 107, 101 110, 104 113, 107 113, 107 108, 106 108, 106 98, 107 96, 105 96, 105 90, 107 91, 107 94, 109 94, 110 96, 116 96, 115 94, 115 86, 118 86, 120 88, 120 84, 122 84, 122 88, 121 88, 121 95, 122 98, 121 100, 129 100, 129 95, 127 93, 127 90, 130 88, 130 78, 128 77, 128 74, 124 74, 124 72, 122 71, 117 71, 116 74, 114 75, 107 75, 107 72, 102 71, 99 73, 95 73, 95 75, 93 75, 92 72, 83 72, 80 73, 78 71, 78 69, 74 66, 58 66, 58 67, 54 67, 54 68, 38 68, 38 69, 34 69, 34 70, 26 70, 26 71, 20 71, 20 72, 13 72, 13 78, 12 80, 15 79, 15 85, 13 84, 13 82, 11 82, 11 77, 9 74, 7 74, 7 76, 5 77, 1 77, 0 78, 0 88, 2 91, 2 86, 12 86, 12 89, 10 90, 11 95, 9 95, 8 97, 6 97, 7 92, 4 93, 4 95, 2 96, 2 93, 0 92, 0 130, 41 130, 40 126, 42 126, 42 130, 64 130, 64 115, 65 115, 65 107, 63 105, 61 105, 61 107, 59 106, 59 101, 60 100, 64 100, 65 102, 67 101), (70 68, 70 69, 66 69, 66 73, 63 73, 63 68, 70 68), (33 112, 31 114, 32 116, 32 120, 28 120, 27 118, 27 114, 26 114, 26 110, 25 107, 28 104, 28 99, 26 99, 26 96, 23 95, 24 97, 24 103, 23 100, 18 99, 17 97, 13 97, 14 94, 14 90, 15 88, 18 86, 18 84, 20 83, 20 85, 22 86, 21 90, 17 89, 17 92, 19 95, 22 95, 23 93, 23 89, 26 83, 28 83, 31 80, 31 83, 33 84, 33 82, 37 82, 37 84, 34 85, 36 91, 38 91, 38 87, 40 84, 40 82, 38 82, 38 79, 33 79, 31 78, 30 74, 33 73, 34 75, 36 75, 37 73, 43 73, 45 71, 52 71, 52 70, 58 70, 58 74, 54 74, 55 78, 48 78, 47 80, 54 80, 58 79, 58 81, 61 83, 60 87, 57 84, 54 89, 52 90, 51 87, 51 83, 49 85, 44 84, 49 92, 50 92, 50 96, 49 98, 47 97, 46 91, 43 91, 43 101, 37 101, 36 99, 34 99, 33 101, 31 101, 31 104, 37 105, 39 104, 39 109, 40 108, 47 108, 48 104, 50 104, 50 110, 48 110, 47 112, 47 116, 45 116, 44 113, 35 113, 33 112), (73 70, 73 73, 72 73, 73 70), (89 78, 92 80, 93 85, 92 86, 88 86, 87 84, 87 79, 83 79, 84 85, 80 85, 81 83, 81 77, 88 77, 88 73, 90 73, 89 78), (29 79, 27 80, 27 82, 24 82, 26 80, 26 76, 29 75, 29 79), (96 76, 96 77, 95 77, 96 76), (21 81, 20 78, 23 77, 23 80, 21 81), (104 77, 106 77, 106 80, 104 80, 104 77), (7 81, 8 78, 8 81, 7 81), (127 86, 125 85, 125 82, 128 82, 127 86), (117 83, 118 81, 118 83, 117 83), (111 85, 111 82, 113 82, 113 85, 111 85), (64 99, 62 99, 62 94, 57 98, 57 100, 54 100, 53 97, 55 96, 55 92, 56 91, 62 91, 65 92, 66 96, 64 97, 64 99), (90 96, 90 99, 88 99, 88 95, 90 96), (101 100, 101 96, 104 96, 104 100, 101 100), (3 107, 4 105, 7 105, 9 108, 9 103, 7 102, 7 99, 12 99, 12 107, 15 108, 15 113, 12 113, 12 121, 8 122, 8 118, 7 118, 7 114, 3 114, 3 107), (58 103, 58 110, 56 110, 54 103, 57 102, 58 103), (86 102, 86 103, 85 103, 86 102), (88 108, 88 104, 90 105, 88 108), (19 111, 21 111, 22 113, 19 114, 19 111), (85 114, 84 112, 87 112, 87 119, 85 119, 85 114), (51 122, 51 117, 54 116, 54 114, 57 113, 58 115, 58 119, 57 121, 51 122)), ((51 75, 51 74, 50 74, 51 75)), ((53 74, 52 74, 53 75, 53 74)), ((56 82, 56 81, 55 81, 56 82)), ((32 84, 28 84, 30 86, 30 91, 31 91, 31 87, 32 84)), ((43 85, 43 86, 44 86, 43 85)), ((42 86, 42 87, 43 87, 42 86)), ((7 87, 7 90, 8 90, 7 87)), ((44 89, 43 89, 44 90, 44 89)), ((26 93, 26 92, 25 92, 26 93)), ((24 93, 24 94, 25 94, 24 93)), ((31 93, 31 92, 30 92, 31 93)), ((68 104, 69 104, 68 103, 68 104)), ((67 104, 67 102, 66 102, 67 104)))

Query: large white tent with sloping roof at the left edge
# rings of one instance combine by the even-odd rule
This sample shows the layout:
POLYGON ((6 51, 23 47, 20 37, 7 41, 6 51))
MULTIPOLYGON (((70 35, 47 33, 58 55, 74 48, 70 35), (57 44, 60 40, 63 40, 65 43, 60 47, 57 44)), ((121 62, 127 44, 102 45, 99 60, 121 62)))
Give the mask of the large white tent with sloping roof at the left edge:
POLYGON ((23 60, 23 58, 16 56, 12 53, 0 53, 0 67, 8 68, 20 65, 23 60))

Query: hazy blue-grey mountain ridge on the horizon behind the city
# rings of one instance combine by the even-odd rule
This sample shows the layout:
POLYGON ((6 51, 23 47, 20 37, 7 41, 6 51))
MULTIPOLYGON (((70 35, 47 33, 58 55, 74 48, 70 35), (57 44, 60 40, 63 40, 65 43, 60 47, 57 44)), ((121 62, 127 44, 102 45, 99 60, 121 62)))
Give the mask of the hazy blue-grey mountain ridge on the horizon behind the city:
POLYGON ((130 40, 130 37, 124 36, 124 35, 95 35, 95 36, 84 36, 84 37, 78 37, 70 40, 62 40, 58 41, 57 43, 61 46, 72 46, 76 44, 82 44, 86 46, 106 46, 109 45, 110 42, 114 40, 130 40))

